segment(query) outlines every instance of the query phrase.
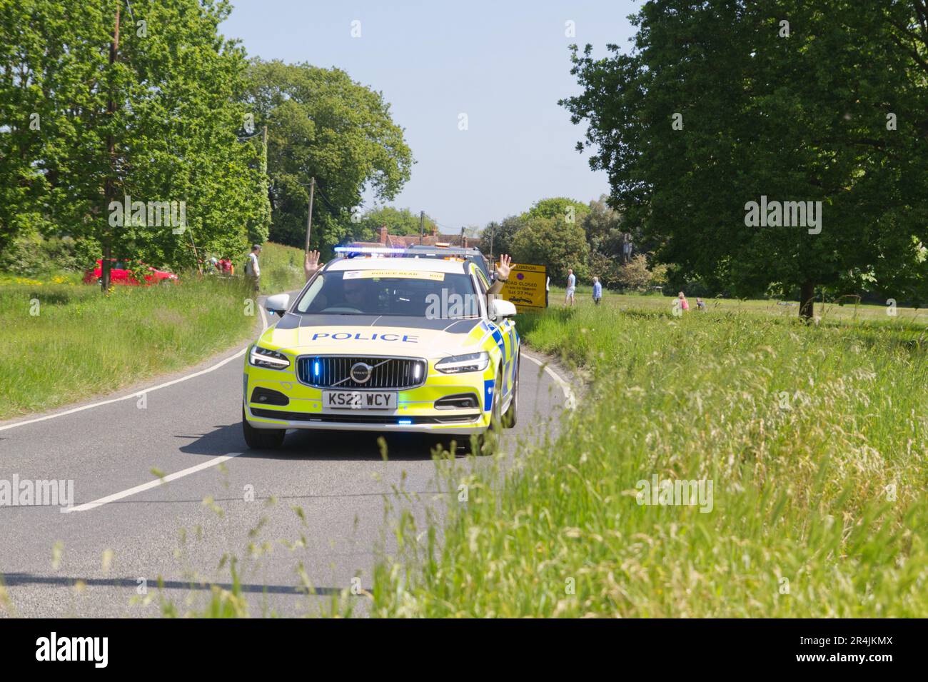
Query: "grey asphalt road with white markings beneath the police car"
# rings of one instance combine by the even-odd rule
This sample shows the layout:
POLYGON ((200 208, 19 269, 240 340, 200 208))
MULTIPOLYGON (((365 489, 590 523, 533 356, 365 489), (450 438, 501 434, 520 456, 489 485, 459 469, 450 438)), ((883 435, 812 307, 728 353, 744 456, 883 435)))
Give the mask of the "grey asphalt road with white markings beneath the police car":
MULTIPOLYGON (((378 551, 393 548, 388 507, 410 508, 421 521, 427 506, 441 513, 456 503, 457 491, 443 492, 449 483, 436 475, 435 442, 424 436, 389 438, 386 460, 376 433, 290 431, 281 450, 248 450, 238 353, 115 400, 101 396, 103 405, 0 423, 0 480, 73 482, 68 512, 0 506, 8 597, 0 614, 201 609, 210 584, 230 583, 222 560, 234 557, 251 615, 313 615, 353 578, 369 588, 378 551), (95 501, 104 503, 88 504, 95 501), (302 587, 301 566, 312 591, 302 587)), ((564 409, 561 383, 532 356, 523 351, 518 426, 505 431, 506 453, 556 429, 564 409)), ((489 463, 460 451, 454 466, 489 463)), ((353 599, 357 612, 367 611, 367 598, 353 599)))

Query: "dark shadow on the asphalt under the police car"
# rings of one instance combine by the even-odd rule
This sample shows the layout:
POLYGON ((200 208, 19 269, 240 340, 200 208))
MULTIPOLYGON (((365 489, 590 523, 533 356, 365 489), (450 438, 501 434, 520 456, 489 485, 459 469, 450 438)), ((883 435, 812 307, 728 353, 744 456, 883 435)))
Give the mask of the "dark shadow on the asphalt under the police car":
MULTIPOLYGON (((249 450, 241 433, 241 423, 216 426, 213 431, 200 435, 174 434, 178 440, 189 443, 180 445, 181 452, 191 455, 218 457, 232 453, 243 453, 239 457, 263 459, 317 459, 322 461, 380 461, 379 433, 373 431, 305 431, 295 430, 287 434, 279 450, 249 450)), ((438 444, 450 446, 451 436, 439 439, 421 433, 389 433, 387 457, 391 461, 421 461, 432 457, 438 444), (447 442, 445 442, 447 441, 447 442)), ((456 457, 466 457, 470 436, 458 436, 456 457)))

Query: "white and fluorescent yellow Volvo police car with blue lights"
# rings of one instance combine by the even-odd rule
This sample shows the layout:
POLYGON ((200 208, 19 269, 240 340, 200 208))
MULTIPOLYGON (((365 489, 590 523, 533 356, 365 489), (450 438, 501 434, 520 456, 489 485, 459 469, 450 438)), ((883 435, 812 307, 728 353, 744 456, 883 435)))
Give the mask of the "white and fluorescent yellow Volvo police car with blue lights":
POLYGON ((515 305, 462 258, 336 258, 249 346, 242 427, 251 448, 288 429, 482 435, 511 427, 519 395, 515 305))

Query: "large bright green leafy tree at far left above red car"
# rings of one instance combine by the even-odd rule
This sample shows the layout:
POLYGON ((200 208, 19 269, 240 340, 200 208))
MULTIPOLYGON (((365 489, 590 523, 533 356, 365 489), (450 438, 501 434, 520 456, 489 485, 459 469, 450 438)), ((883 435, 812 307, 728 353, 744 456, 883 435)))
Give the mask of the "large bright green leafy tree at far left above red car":
POLYGON ((232 254, 266 234, 259 157, 238 142, 244 53, 218 33, 225 1, 3 5, 0 233, 41 214, 104 254, 174 265, 193 264, 194 244, 232 254), (113 225, 125 196, 183 201, 186 228, 148 214, 113 225))

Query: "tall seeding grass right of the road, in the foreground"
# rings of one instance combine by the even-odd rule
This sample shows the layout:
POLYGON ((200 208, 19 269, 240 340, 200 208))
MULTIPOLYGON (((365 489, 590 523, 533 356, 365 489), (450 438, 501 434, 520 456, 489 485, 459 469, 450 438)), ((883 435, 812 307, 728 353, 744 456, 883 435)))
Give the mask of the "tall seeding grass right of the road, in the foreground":
POLYGON ((928 615, 922 328, 592 305, 521 320, 589 380, 580 406, 505 465, 441 463, 467 501, 424 528, 401 516, 374 615, 928 615), (655 474, 711 481, 711 511, 639 505, 655 474))

